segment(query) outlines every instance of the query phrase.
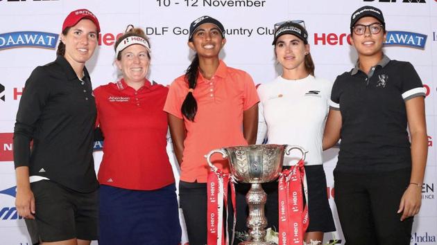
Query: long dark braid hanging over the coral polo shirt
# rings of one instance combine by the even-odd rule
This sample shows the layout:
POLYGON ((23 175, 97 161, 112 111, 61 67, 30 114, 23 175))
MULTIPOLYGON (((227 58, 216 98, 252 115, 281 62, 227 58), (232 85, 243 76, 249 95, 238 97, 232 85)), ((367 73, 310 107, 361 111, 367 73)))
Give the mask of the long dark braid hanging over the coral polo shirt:
POLYGON ((185 116, 188 120, 194 122, 194 117, 197 113, 197 101, 193 96, 193 90, 196 89, 197 85, 197 76, 199 70, 199 56, 194 56, 191 64, 187 68, 187 72, 185 73, 185 82, 188 84, 189 92, 185 97, 184 102, 182 103, 182 107, 180 107, 180 111, 182 115, 185 116))

